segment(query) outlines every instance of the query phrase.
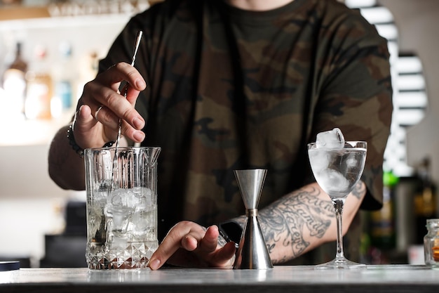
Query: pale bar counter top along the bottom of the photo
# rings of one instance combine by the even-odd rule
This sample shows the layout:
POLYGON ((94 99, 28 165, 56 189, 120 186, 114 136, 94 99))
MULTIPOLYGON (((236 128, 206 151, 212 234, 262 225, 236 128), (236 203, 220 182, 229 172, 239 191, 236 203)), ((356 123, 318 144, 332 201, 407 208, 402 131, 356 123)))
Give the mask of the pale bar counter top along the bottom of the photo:
POLYGON ((439 271, 426 266, 382 265, 363 270, 161 268, 158 271, 20 268, 0 272, 0 292, 439 292, 439 271))

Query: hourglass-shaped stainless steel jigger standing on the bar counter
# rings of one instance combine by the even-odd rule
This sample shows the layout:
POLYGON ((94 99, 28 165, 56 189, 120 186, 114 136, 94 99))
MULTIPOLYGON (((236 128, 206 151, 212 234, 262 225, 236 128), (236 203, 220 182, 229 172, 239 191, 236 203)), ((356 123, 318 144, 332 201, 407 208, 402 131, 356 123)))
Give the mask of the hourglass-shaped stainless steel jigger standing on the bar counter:
POLYGON ((265 181, 266 170, 235 170, 241 197, 245 204, 247 220, 241 240, 234 268, 268 269, 273 268, 264 235, 257 220, 257 206, 261 197, 265 181))

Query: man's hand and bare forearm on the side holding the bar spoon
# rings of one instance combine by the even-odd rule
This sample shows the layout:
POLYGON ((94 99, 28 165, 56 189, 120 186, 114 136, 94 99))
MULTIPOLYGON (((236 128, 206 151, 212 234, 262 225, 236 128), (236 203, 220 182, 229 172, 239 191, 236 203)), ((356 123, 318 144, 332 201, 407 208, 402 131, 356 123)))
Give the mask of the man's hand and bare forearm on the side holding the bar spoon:
MULTIPOLYGON (((73 122, 74 138, 79 148, 101 148, 114 141, 119 131, 119 119, 122 136, 135 143, 142 142, 144 133, 141 129, 145 122, 134 106, 139 92, 145 88, 140 73, 128 63, 118 63, 88 82, 78 101, 73 122), (126 97, 119 93, 122 81, 129 83, 126 97)), ((69 145, 66 130, 66 126, 62 127, 50 143, 49 175, 61 188, 83 190, 84 161, 69 145)))

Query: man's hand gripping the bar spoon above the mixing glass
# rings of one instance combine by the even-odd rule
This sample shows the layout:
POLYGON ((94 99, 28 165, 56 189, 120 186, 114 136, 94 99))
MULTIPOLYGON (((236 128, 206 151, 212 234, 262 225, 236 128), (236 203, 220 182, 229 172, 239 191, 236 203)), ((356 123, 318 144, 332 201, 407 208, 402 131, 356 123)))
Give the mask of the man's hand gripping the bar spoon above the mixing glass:
MULTIPOLYGON (((118 63, 84 86, 78 101, 73 130, 76 143, 83 149, 99 148, 114 141, 122 121, 121 134, 136 143, 144 140, 144 119, 135 110, 139 92, 146 88, 143 77, 128 63, 118 63), (119 92, 128 82, 126 97, 119 92)), ((123 89, 125 91, 125 89, 123 89)))

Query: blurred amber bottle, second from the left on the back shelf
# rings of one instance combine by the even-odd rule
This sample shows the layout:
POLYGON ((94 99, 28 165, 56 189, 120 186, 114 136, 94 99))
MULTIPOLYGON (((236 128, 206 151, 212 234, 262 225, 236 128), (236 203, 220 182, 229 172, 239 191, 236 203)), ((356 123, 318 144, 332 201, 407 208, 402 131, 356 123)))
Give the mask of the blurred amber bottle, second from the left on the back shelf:
POLYGON ((34 68, 26 74, 27 94, 25 115, 27 119, 50 119, 50 103, 53 96, 53 83, 46 64, 46 48, 36 48, 34 68))

